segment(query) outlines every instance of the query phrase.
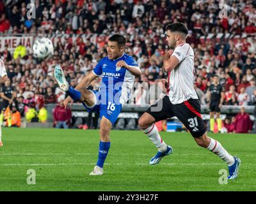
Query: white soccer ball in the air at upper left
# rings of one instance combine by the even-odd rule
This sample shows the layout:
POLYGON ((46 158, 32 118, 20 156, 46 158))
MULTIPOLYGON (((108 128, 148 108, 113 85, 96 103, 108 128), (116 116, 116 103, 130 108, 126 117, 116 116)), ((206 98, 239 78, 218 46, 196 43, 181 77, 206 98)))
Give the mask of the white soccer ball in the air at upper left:
POLYGON ((33 56, 38 59, 45 59, 53 55, 52 41, 48 38, 38 38, 33 45, 33 56))

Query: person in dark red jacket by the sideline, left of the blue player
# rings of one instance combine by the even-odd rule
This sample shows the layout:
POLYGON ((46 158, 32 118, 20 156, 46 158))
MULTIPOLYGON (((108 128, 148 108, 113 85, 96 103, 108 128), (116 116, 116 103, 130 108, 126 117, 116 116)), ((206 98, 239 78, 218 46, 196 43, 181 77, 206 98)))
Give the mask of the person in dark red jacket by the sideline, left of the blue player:
POLYGON ((67 129, 68 124, 70 124, 71 110, 70 108, 65 109, 63 101, 64 100, 61 100, 60 103, 54 108, 53 119, 56 128, 63 127, 67 129))

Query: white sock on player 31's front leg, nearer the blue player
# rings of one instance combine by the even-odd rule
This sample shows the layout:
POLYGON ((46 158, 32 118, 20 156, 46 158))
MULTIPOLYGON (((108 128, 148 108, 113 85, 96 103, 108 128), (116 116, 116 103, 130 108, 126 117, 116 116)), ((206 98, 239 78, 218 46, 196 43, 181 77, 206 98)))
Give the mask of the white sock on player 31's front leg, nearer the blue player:
POLYGON ((166 143, 163 142, 163 139, 158 133, 158 129, 155 124, 152 124, 146 129, 142 129, 142 131, 147 134, 148 138, 152 143, 158 148, 159 152, 165 152, 167 149, 166 143))

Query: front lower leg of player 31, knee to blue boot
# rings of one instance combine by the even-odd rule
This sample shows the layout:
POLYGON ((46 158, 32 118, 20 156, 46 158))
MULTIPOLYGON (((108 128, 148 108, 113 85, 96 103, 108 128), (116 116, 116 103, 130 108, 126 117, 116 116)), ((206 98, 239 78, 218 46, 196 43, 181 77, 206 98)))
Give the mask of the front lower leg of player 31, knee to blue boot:
POLYGON ((152 143, 157 147, 158 151, 154 157, 149 161, 149 164, 158 164, 164 156, 172 154, 172 147, 166 145, 161 136, 159 135, 158 129, 154 124, 155 119, 149 113, 144 113, 139 119, 139 126, 141 130, 148 136, 152 143))

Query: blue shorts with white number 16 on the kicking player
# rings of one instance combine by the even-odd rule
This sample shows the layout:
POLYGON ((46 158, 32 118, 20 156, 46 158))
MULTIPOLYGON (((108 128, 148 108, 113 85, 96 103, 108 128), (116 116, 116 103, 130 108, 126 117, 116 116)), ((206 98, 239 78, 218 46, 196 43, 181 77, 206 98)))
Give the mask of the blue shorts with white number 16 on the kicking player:
POLYGON ((82 103, 83 106, 86 108, 88 112, 97 112, 100 115, 100 119, 102 119, 102 116, 106 117, 106 119, 108 119, 112 123, 112 127, 114 127, 114 124, 118 118, 118 115, 122 110, 122 104, 116 104, 111 102, 102 104, 100 103, 101 98, 99 96, 99 91, 93 90, 92 92, 95 95, 95 100, 96 100, 95 105, 87 106, 85 103, 82 103))

